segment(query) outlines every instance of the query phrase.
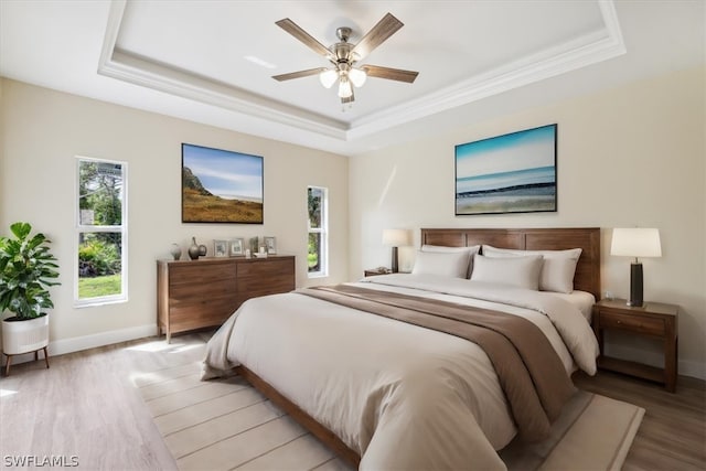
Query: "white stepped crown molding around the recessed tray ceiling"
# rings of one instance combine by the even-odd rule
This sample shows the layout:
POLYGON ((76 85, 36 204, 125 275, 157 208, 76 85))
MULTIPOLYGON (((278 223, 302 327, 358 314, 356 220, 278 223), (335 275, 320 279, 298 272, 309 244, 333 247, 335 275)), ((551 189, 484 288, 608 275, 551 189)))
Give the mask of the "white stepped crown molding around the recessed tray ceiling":
POLYGON ((127 0, 114 0, 110 4, 98 73, 246 117, 266 119, 339 141, 353 141, 624 54, 625 46, 613 0, 599 0, 598 6, 605 24, 601 31, 549 47, 403 105, 374 113, 351 125, 119 50, 116 44, 127 0))

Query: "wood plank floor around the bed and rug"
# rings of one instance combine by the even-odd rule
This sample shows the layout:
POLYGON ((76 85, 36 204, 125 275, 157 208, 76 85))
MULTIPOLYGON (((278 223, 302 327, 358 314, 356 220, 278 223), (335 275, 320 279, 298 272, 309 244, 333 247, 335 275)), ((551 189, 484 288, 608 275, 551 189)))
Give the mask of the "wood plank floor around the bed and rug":
MULTIPOLYGON (((90 470, 175 469, 130 378, 199 361, 210 335, 174 336, 179 354, 152 338, 51 357, 50 370, 41 360, 13 365, 0 379, 0 469, 9 468, 8 456, 76 457, 78 469, 90 470)), ((646 409, 624 470, 706 469, 706 382, 681 376, 670 394, 612 373, 574 379, 646 409)))

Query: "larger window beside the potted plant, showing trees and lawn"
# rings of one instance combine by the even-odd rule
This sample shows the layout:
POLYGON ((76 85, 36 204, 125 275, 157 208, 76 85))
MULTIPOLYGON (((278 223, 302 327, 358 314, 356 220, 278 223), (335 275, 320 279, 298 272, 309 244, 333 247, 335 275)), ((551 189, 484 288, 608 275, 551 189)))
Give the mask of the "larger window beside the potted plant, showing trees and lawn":
POLYGON ((77 158, 77 306, 127 300, 127 163, 77 158))

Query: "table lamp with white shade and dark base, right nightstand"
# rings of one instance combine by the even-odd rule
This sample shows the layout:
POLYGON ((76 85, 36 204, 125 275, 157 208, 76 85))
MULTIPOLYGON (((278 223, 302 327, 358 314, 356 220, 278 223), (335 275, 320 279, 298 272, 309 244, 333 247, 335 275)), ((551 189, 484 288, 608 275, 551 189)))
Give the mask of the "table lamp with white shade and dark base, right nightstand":
POLYGON ((614 228, 610 255, 634 257, 630 265, 628 306, 642 306, 642 264, 638 257, 661 257, 660 231, 654 228, 614 228))

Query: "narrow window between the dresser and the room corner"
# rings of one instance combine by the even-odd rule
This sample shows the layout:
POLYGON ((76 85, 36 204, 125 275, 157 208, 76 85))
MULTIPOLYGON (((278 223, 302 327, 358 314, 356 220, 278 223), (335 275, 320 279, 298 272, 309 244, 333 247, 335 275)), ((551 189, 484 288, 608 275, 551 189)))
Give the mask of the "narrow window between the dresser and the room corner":
POLYGON ((328 190, 309 186, 309 253, 307 261, 309 278, 329 275, 329 201, 328 190))

